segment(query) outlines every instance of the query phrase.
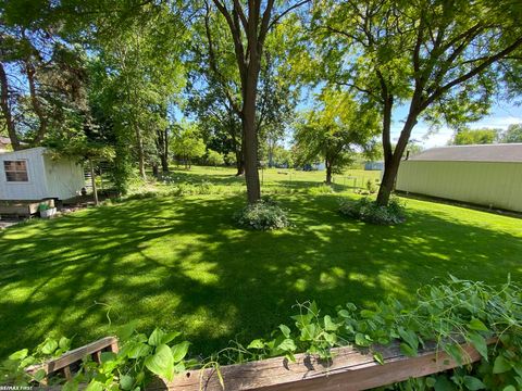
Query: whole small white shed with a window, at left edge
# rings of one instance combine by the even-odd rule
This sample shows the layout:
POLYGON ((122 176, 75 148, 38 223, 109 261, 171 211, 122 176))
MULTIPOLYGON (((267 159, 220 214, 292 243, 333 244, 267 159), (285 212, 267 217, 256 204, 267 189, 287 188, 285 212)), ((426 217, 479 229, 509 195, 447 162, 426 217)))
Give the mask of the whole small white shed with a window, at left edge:
POLYGON ((0 154, 0 200, 66 200, 85 186, 82 165, 44 147, 0 154))

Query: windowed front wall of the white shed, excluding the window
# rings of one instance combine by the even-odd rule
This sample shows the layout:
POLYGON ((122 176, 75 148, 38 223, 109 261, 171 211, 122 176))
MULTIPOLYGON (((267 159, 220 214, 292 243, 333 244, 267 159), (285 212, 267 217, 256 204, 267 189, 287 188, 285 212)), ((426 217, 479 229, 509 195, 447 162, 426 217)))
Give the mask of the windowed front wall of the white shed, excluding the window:
POLYGON ((47 194, 47 180, 44 171, 44 148, 0 154, 0 200, 40 200, 47 194), (27 161, 27 182, 8 182, 4 161, 27 161))

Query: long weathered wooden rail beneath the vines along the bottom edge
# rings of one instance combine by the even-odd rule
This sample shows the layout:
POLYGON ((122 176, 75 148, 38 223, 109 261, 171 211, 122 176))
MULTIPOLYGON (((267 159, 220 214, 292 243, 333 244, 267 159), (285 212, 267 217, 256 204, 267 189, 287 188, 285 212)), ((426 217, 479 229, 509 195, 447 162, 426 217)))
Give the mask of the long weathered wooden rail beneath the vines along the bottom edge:
MULTIPOLYGON (((225 390, 311 391, 366 390, 380 386, 422 377, 451 369, 458 364, 445 352, 433 349, 421 351, 417 357, 407 357, 398 345, 381 348, 385 365, 373 360, 369 352, 353 348, 333 349, 334 360, 324 363, 306 354, 296 355, 296 363, 283 357, 221 367, 225 390)), ((464 363, 481 358, 469 344, 462 345, 464 363)), ((192 370, 177 376, 172 382, 159 382, 148 390, 221 391, 214 369, 192 370)))

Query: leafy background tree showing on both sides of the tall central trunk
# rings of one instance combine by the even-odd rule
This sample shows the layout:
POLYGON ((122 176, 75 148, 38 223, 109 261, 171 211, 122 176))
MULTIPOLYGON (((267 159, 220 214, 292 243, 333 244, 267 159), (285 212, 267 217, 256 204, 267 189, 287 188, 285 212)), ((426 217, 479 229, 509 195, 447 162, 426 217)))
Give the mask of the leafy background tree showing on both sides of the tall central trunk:
MULTIPOLYGON (((259 93, 256 102, 258 151, 268 139, 281 138, 296 105, 288 64, 294 43, 295 18, 287 17, 268 36, 261 58, 259 93)), ((201 122, 210 147, 222 153, 236 153, 237 174, 244 174, 241 79, 226 20, 207 2, 202 16, 194 25, 189 104, 187 112, 201 122), (228 135, 228 137, 227 137, 228 135)), ((271 142, 273 143, 273 142, 271 142)))

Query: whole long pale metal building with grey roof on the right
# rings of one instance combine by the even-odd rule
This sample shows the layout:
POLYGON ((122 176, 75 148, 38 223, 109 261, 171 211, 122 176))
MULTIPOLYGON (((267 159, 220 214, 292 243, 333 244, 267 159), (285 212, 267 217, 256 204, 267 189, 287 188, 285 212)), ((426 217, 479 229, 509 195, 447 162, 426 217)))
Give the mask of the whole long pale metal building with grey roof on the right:
POLYGON ((423 151, 401 162, 396 189, 522 212, 522 143, 423 151))

